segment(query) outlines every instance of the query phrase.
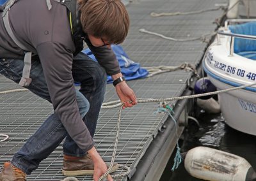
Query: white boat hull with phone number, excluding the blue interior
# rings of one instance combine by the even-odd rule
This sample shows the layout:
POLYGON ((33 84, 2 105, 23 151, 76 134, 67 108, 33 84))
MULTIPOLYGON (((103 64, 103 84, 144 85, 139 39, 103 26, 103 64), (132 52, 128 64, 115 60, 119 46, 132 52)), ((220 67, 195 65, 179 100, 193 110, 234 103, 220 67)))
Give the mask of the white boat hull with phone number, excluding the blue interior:
MULTIPOLYGON (((249 85, 256 82, 256 61, 240 55, 230 56, 230 37, 221 36, 206 53, 203 66, 218 90, 249 85)), ((228 126, 256 135, 256 87, 219 94, 221 112, 228 126)))

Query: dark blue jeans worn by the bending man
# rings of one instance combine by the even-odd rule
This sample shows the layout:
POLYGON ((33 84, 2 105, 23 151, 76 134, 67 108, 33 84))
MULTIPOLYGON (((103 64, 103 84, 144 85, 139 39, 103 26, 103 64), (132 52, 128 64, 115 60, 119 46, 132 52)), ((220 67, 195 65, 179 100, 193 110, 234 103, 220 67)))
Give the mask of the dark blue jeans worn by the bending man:
MULTIPOLYGON (((0 58, 0 73, 16 83, 20 81, 23 66, 23 60, 0 58)), ((74 57, 72 74, 74 81, 81 83, 81 89, 76 91, 77 105, 84 123, 93 136, 97 125, 100 106, 104 99, 106 72, 104 68, 97 62, 92 61, 90 57, 79 53, 74 57)), ((27 87, 29 91, 51 102, 44 72, 38 59, 34 58, 32 60, 30 77, 32 78, 32 82, 29 87, 27 87)), ((66 138, 63 143, 64 154, 77 157, 86 154, 86 152, 81 150, 68 135, 57 114, 52 113, 42 126, 39 127, 36 133, 20 148, 17 154, 13 156, 12 164, 20 168, 26 174, 30 174, 33 170, 38 168, 42 160, 58 147, 64 138, 66 138)))

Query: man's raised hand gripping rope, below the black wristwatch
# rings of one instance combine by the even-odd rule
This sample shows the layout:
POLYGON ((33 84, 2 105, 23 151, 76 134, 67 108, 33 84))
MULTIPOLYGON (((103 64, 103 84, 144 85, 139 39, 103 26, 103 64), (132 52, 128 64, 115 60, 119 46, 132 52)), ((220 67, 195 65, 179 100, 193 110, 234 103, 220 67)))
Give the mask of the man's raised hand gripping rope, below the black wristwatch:
POLYGON ((116 85, 116 94, 120 101, 124 103, 123 108, 132 107, 137 104, 134 92, 124 81, 116 85))

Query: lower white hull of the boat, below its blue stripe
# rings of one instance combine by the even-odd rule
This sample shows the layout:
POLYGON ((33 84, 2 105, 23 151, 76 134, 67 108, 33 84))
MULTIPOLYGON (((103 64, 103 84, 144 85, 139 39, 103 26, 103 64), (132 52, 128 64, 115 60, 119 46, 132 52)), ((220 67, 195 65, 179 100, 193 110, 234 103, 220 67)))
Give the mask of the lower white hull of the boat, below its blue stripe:
MULTIPOLYGON (((229 89, 232 86, 209 76, 218 90, 229 89)), ((249 91, 233 91, 218 95, 221 112, 228 126, 243 133, 256 135, 256 101, 255 94, 249 91)))

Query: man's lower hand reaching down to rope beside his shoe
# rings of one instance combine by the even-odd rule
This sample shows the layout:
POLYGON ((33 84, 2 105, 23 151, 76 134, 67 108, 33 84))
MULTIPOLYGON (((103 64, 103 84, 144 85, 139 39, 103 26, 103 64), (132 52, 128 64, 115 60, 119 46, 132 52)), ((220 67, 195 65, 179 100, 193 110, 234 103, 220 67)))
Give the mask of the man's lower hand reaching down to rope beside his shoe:
MULTIPOLYGON (((97 150, 95 147, 92 149, 88 150, 88 154, 92 157, 92 161, 94 164, 94 172, 93 172, 93 180, 98 181, 99 178, 107 172, 108 168, 106 166, 106 163, 102 160, 100 155, 98 154, 97 150)), ((113 181, 113 178, 111 175, 107 176, 108 181, 113 181)))

